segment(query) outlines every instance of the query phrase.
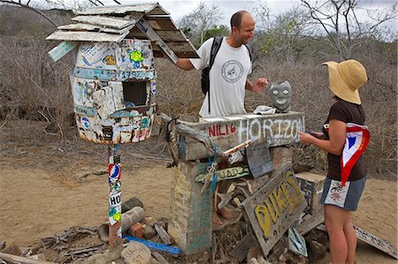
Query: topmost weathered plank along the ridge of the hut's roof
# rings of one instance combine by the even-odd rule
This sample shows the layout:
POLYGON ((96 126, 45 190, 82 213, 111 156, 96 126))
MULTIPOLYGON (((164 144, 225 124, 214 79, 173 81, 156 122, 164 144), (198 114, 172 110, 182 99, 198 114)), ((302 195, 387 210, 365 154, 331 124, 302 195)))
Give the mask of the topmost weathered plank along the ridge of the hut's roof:
POLYGON ((158 4, 134 4, 90 7, 85 11, 77 11, 79 15, 125 14, 127 12, 143 12, 149 15, 170 15, 158 4))

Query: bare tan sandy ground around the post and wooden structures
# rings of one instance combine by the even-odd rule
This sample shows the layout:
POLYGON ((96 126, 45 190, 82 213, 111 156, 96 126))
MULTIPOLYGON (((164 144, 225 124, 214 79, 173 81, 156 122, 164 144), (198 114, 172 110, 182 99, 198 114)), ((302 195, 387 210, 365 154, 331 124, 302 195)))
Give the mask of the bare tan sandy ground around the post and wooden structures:
MULTIPOLYGON (((91 149, 91 143, 79 140, 75 143, 77 150, 70 142, 43 143, 40 129, 27 144, 14 136, 13 130, 18 131, 18 127, 0 130, 0 241, 14 241, 22 247, 72 226, 95 226, 107 220, 107 175, 91 174, 106 170, 105 151, 98 152, 97 148, 91 149), (85 174, 89 175, 83 177, 85 174)), ((133 154, 126 155, 122 164, 122 199, 137 197, 146 215, 167 218, 173 173, 173 169, 166 169, 167 159, 133 154)), ((396 248, 396 180, 370 177, 353 219, 356 226, 396 248)), ((364 243, 358 244, 356 261, 397 263, 364 243)))

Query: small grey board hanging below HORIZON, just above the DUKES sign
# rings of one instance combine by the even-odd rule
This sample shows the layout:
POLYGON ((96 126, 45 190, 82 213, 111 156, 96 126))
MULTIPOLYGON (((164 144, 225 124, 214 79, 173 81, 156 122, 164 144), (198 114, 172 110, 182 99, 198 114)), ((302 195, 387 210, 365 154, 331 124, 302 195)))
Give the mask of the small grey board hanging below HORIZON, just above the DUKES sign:
POLYGON ((264 176, 273 169, 270 150, 266 141, 252 144, 246 148, 246 159, 251 176, 254 178, 264 176))

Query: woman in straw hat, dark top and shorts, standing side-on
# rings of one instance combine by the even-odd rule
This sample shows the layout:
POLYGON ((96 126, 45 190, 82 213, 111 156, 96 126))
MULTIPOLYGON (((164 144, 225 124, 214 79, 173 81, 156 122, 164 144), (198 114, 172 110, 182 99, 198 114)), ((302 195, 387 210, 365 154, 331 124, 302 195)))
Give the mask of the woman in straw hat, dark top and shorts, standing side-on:
POLYGON ((324 64, 329 70, 329 88, 336 102, 323 132, 300 132, 300 140, 328 152, 321 203, 332 263, 354 263, 356 232, 351 212, 356 211, 364 191, 367 171, 361 155, 370 139, 358 89, 364 86, 367 76, 364 66, 356 60, 324 64))

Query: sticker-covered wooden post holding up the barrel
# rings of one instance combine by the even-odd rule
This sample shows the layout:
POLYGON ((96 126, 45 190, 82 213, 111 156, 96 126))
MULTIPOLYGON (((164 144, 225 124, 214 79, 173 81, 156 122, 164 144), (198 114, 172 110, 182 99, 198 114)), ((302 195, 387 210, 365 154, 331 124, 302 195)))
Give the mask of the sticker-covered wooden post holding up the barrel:
POLYGON ((109 245, 121 245, 120 144, 108 145, 109 245))

